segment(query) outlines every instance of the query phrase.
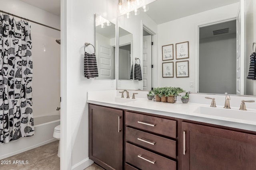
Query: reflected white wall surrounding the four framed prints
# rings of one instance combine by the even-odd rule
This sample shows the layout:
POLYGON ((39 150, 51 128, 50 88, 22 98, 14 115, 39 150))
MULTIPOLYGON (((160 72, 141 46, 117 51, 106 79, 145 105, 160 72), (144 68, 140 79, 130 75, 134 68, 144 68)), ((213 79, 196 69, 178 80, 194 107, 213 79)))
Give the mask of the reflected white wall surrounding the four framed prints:
MULTIPOLYGON (((206 12, 201 12, 178 20, 158 25, 158 86, 179 86, 186 91, 197 92, 197 88, 190 87, 190 82, 196 84, 195 78, 195 41, 196 25, 210 23, 236 17, 238 3, 223 6, 206 12), (176 78, 176 49, 175 43, 189 41, 189 78, 176 78), (162 45, 174 44, 174 78, 162 78, 162 45)), ((187 59, 184 59, 187 60, 187 59)), ((179 61, 184 61, 179 60, 179 61)))

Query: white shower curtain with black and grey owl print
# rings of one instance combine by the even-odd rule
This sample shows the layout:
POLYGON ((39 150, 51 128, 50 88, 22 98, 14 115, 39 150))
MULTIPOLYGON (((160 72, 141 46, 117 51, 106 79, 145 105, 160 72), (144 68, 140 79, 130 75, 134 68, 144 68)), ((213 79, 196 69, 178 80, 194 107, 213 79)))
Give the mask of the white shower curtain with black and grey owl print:
POLYGON ((34 135, 30 23, 0 15, 0 144, 34 135))

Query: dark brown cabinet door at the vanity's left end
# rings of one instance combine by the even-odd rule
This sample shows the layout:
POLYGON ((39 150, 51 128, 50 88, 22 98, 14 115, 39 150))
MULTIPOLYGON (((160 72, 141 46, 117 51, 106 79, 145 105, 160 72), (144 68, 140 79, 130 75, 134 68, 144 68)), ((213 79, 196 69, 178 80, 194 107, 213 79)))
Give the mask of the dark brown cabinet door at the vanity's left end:
POLYGON ((89 158, 109 170, 123 168, 123 111, 89 105, 89 158))

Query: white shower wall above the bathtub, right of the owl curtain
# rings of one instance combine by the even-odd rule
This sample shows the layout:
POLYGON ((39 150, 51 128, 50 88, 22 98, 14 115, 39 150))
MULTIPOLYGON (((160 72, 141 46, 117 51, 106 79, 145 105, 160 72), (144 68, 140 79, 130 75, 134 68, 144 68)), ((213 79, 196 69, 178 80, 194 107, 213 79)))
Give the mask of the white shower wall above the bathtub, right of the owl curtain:
MULTIPOLYGON (((0 0, 1 10, 60 29, 60 16, 19 0, 0 0)), ((15 18, 20 20, 20 18, 15 18)), ((60 114, 60 31, 31 22, 33 115, 60 114)))

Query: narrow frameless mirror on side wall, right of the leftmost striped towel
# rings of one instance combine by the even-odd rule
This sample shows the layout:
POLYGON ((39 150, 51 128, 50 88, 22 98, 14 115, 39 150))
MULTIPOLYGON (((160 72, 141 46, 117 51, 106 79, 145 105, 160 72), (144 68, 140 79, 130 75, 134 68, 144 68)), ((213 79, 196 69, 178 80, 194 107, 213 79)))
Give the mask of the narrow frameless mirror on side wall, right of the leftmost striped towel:
POLYGON ((97 79, 115 79, 115 35, 115 24, 95 14, 95 53, 99 72, 97 79))

